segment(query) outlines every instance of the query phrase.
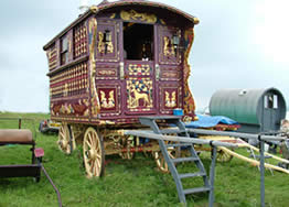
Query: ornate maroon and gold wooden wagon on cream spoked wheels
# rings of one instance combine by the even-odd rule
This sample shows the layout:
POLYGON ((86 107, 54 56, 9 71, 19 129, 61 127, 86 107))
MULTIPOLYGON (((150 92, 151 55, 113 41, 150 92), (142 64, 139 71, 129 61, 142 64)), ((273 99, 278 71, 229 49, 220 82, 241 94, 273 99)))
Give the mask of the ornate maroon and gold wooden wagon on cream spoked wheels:
POLYGON ((43 47, 51 119, 62 122, 58 146, 71 153, 83 143, 88 177, 104 173, 105 155, 158 154, 157 141, 125 135, 124 130, 143 127, 139 117, 182 109, 183 119, 194 119, 188 79, 197 23, 162 3, 103 1, 43 47))

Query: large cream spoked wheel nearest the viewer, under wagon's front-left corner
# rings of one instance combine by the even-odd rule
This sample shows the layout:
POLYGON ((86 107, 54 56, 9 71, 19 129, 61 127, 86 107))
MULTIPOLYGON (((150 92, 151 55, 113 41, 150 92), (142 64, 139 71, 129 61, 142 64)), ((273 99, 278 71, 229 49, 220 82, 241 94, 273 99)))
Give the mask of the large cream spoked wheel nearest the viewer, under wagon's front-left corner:
POLYGON ((88 128, 83 142, 84 166, 88 178, 99 177, 105 172, 104 143, 94 128, 88 128))

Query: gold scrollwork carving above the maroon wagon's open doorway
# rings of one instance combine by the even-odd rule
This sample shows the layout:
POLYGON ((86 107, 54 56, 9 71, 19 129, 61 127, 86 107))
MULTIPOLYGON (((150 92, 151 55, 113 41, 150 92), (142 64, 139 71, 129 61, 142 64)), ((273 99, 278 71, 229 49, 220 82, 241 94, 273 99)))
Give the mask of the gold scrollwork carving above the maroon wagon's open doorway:
POLYGON ((156 23, 158 20, 158 18, 154 14, 139 13, 135 10, 121 11, 120 18, 126 21, 137 20, 137 21, 147 22, 147 23, 156 23))

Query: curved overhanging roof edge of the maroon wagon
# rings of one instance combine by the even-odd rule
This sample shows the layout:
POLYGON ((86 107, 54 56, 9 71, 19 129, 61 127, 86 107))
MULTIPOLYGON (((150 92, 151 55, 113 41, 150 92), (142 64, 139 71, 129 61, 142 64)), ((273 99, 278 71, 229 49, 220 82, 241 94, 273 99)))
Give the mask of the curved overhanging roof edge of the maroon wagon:
POLYGON ((82 22, 84 19, 89 17, 92 13, 96 14, 96 13, 98 13, 100 11, 105 11, 105 10, 113 9, 113 8, 118 8, 118 7, 125 7, 125 6, 143 6, 143 7, 160 8, 160 9, 164 9, 164 10, 171 11, 173 13, 176 13, 176 14, 185 18, 186 20, 189 20, 193 24, 199 24, 199 22, 200 22, 200 20, 197 18, 195 18, 195 17, 193 17, 191 14, 185 13, 185 12, 174 8, 174 7, 167 6, 167 4, 160 3, 160 2, 152 2, 152 1, 147 1, 147 0, 119 0, 119 1, 115 1, 115 2, 108 2, 107 0, 104 0, 98 6, 92 6, 90 9, 87 12, 85 12, 83 15, 81 15, 78 19, 76 19, 72 24, 69 24, 66 29, 64 29, 52 41, 50 41, 46 45, 44 45, 43 50, 47 50, 54 43, 54 41, 56 39, 61 37, 71 28, 73 28, 76 24, 78 24, 79 22, 82 22))

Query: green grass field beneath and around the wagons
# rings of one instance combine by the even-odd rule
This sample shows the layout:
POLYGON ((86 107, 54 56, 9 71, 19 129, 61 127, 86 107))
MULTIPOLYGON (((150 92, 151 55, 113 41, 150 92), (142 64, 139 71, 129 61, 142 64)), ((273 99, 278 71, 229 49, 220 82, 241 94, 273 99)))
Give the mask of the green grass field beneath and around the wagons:
MULTIPOLYGON (((22 128, 38 128, 41 113, 0 113, 1 117, 34 118, 35 123, 23 121, 22 128)), ((18 121, 0 120, 0 129, 18 128, 18 121)), ((119 156, 106 157, 106 174, 101 178, 87 179, 78 146, 72 155, 63 154, 54 134, 35 132, 38 146, 43 148, 43 164, 58 187, 63 206, 184 206, 179 203, 175 184, 170 174, 157 170, 152 159, 137 154, 131 161, 119 156)), ((237 150, 242 153, 242 150, 237 150)), ((0 165, 28 164, 31 160, 29 146, 0 146, 0 165)), ((210 153, 202 152, 201 159, 210 167, 210 153)), ((181 168, 193 167, 188 165, 181 168)), ((215 176, 215 206, 260 206, 259 171, 248 163, 233 159, 228 163, 217 163, 215 176)), ((266 171, 266 206, 289 206, 289 175, 266 171)), ((197 185, 200 181, 189 181, 197 185)), ((207 206, 207 194, 188 196, 188 206, 207 206)), ((40 183, 33 178, 1 178, 0 207, 10 206, 57 206, 56 194, 42 174, 40 183)))

